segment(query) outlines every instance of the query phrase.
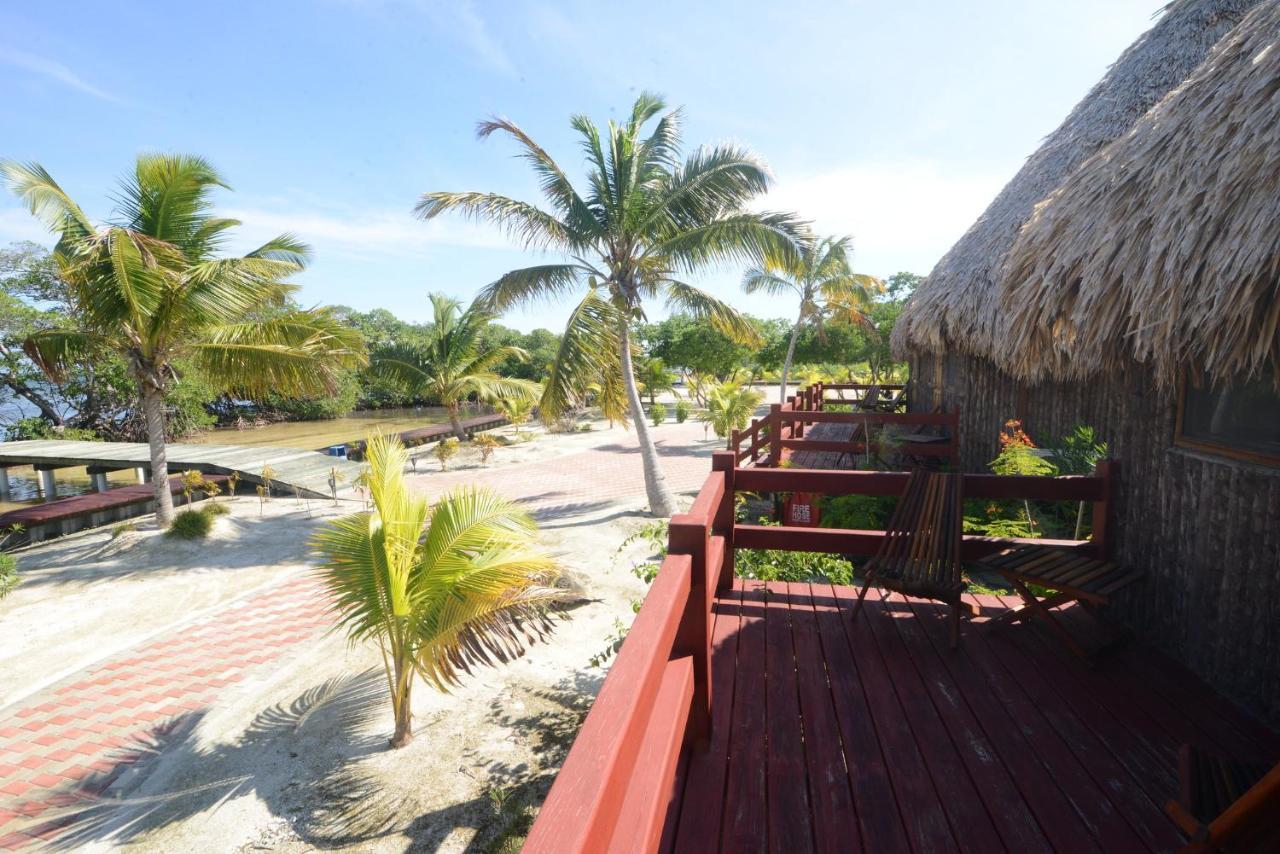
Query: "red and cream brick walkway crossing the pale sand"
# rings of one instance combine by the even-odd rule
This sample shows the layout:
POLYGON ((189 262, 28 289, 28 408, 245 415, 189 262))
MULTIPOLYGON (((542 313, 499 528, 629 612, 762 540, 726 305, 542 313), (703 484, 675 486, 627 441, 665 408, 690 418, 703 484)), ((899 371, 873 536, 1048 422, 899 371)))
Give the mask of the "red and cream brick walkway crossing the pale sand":
MULTIPOLYGON (((663 470, 676 492, 696 489, 707 476, 701 437, 695 424, 658 431, 663 470)), ((621 430, 616 442, 552 460, 411 481, 433 495, 481 483, 544 520, 622 498, 644 501, 635 434, 621 430)), ((0 850, 55 840, 151 753, 147 745, 177 716, 207 708, 228 685, 278 665, 330 624, 316 583, 294 576, 0 712, 0 850)))

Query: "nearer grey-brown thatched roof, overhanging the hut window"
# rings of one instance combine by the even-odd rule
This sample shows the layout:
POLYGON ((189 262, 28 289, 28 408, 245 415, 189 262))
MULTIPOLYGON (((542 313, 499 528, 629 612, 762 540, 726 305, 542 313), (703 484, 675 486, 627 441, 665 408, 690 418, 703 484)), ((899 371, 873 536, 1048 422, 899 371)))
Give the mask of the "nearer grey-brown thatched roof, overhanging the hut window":
POLYGON ((1280 0, 1037 206, 998 293, 1027 379, 1280 369, 1280 0))

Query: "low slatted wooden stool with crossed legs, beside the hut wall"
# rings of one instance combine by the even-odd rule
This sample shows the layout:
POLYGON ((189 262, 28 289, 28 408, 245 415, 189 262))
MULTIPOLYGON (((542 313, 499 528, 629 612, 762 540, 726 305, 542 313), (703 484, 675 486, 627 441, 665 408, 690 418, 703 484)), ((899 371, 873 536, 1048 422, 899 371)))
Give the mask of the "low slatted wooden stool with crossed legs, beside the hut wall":
POLYGON ((1111 597, 1142 579, 1138 570, 1126 570, 1110 561, 1100 561, 1079 548, 1060 548, 1052 545, 1018 545, 991 554, 980 561, 980 566, 1002 576, 1018 592, 1023 606, 1010 608, 995 617, 991 624, 1001 625, 1019 622, 1028 617, 1039 617, 1061 638, 1066 647, 1080 658, 1094 658, 1115 645, 1123 634, 1108 629, 1110 639, 1093 649, 1085 649, 1070 631, 1053 616, 1052 609, 1076 602, 1100 625, 1103 624, 1097 608, 1107 604, 1111 597), (1032 585, 1051 590, 1050 595, 1038 597, 1032 585))

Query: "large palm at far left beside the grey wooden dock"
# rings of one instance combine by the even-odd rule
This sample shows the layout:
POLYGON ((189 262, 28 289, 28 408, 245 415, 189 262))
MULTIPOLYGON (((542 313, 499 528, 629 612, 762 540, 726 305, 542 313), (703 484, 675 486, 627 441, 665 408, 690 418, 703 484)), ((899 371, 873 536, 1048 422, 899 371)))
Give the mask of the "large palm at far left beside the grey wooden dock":
POLYGON ((191 366, 227 392, 319 394, 337 371, 364 364, 356 330, 328 309, 294 310, 285 278, 310 252, 283 234, 243 257, 220 255, 239 223, 215 216, 227 184, 188 155, 140 155, 120 182, 116 216, 93 225, 38 164, 0 163, 0 178, 58 234, 54 256, 74 328, 32 334, 28 355, 58 379, 92 353, 122 356, 138 387, 151 446, 156 520, 173 519, 165 394, 191 366))

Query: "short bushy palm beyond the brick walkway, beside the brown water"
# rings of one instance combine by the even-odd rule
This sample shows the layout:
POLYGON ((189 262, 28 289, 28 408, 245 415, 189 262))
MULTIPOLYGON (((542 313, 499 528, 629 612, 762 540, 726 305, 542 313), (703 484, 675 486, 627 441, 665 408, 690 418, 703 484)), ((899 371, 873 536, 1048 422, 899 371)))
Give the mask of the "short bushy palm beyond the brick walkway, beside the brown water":
POLYGON ((416 397, 433 398, 449 412, 453 435, 466 439, 458 412, 472 394, 486 398, 534 398, 538 384, 494 373, 494 365, 529 356, 520 347, 494 347, 480 352, 480 337, 493 320, 484 305, 462 303, 431 294, 434 324, 421 346, 393 346, 375 353, 371 371, 404 385, 416 397))

